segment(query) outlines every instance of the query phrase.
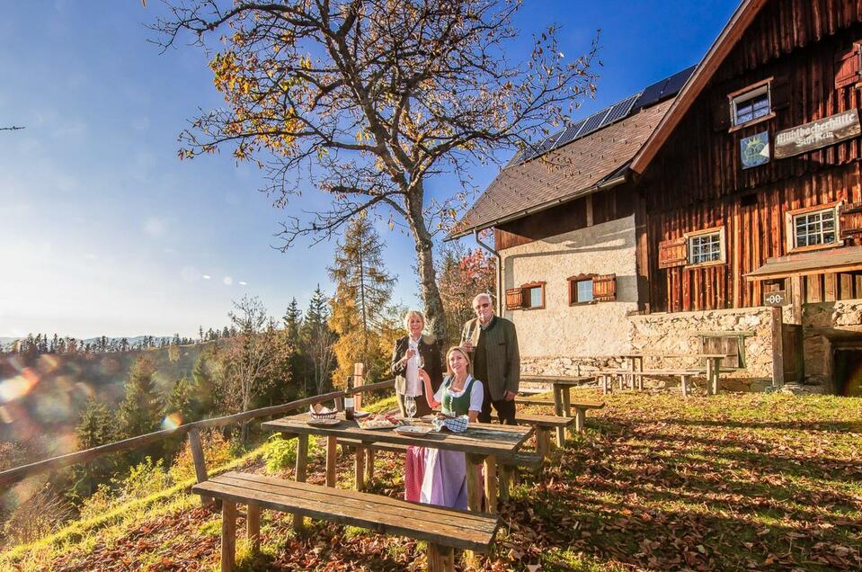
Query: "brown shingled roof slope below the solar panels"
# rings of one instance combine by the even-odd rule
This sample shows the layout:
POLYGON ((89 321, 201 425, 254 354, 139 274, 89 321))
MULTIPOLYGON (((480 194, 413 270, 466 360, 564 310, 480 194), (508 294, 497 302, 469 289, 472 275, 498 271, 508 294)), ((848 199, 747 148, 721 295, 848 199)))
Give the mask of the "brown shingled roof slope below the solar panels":
POLYGON ((589 194, 626 174, 626 167, 667 112, 673 100, 647 107, 543 155, 515 160, 497 174, 449 238, 520 219, 589 194))

